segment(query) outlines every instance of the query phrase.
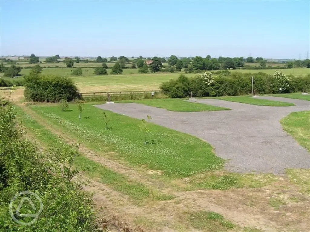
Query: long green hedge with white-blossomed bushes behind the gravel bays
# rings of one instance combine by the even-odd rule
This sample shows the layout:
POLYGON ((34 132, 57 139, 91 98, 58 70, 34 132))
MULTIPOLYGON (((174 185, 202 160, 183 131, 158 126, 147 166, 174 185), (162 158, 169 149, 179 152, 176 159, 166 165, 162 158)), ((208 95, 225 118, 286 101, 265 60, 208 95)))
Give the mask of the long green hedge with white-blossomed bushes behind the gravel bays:
POLYGON ((238 96, 251 94, 251 78, 254 77, 253 89, 255 94, 290 93, 310 91, 310 74, 305 77, 289 76, 289 87, 283 88, 281 81, 273 75, 265 73, 221 73, 214 77, 214 82, 207 85, 202 75, 194 78, 187 78, 180 75, 175 80, 170 80, 161 84, 162 92, 172 98, 183 98, 190 96, 238 96), (280 90, 282 87, 282 90, 280 90))

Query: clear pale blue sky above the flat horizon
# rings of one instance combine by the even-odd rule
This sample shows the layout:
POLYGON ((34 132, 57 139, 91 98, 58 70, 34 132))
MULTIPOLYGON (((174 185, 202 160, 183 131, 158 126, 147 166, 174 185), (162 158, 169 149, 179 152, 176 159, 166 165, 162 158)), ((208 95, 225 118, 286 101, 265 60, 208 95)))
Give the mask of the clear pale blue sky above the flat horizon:
POLYGON ((1 0, 1 54, 301 58, 309 1, 1 0))

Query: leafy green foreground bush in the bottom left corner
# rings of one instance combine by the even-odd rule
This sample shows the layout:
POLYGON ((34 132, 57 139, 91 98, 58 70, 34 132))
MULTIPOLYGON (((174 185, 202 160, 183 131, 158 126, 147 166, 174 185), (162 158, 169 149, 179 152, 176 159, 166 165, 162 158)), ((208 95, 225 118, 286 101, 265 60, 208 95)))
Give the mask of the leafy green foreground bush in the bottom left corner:
MULTIPOLYGON (((41 152, 23 136, 15 118, 14 107, 0 104, 0 230, 97 230, 91 195, 81 190, 84 183, 72 182, 73 176, 78 175, 72 167, 77 148, 59 143, 56 149, 41 152), (22 191, 35 192, 43 203, 43 210, 32 225, 19 225, 9 214, 11 199, 22 191)), ((33 217, 19 217, 15 213, 20 200, 13 203, 14 216, 29 222, 33 217)), ((38 201, 32 202, 38 210, 38 201)), ((19 213, 38 212, 33 211, 30 204, 24 203, 19 213)))

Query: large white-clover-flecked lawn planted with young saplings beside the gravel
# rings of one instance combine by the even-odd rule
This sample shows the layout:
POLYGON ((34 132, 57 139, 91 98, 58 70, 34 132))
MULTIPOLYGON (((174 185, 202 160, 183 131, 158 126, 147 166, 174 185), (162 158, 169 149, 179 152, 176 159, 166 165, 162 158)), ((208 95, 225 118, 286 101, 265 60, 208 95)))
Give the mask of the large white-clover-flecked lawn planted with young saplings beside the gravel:
MULTIPOLYGON (((63 112, 59 106, 29 106, 43 118, 57 123, 65 132, 98 153, 115 151, 111 158, 131 165, 163 172, 170 178, 182 178, 195 173, 223 167, 224 160, 215 156, 210 144, 197 137, 147 123, 148 141, 144 145, 141 120, 105 111, 112 130, 105 129, 103 110, 85 104, 82 120, 78 107, 70 105, 63 112)), ((152 115, 150 115, 152 116, 152 115)))

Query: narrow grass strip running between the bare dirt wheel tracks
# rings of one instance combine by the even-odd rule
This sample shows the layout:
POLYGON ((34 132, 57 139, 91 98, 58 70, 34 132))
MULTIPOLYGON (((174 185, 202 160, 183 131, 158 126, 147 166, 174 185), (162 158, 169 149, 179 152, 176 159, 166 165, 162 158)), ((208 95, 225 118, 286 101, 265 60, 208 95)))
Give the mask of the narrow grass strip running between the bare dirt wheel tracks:
MULTIPOLYGON (((15 107, 20 122, 24 125, 24 127, 26 127, 27 130, 35 135, 38 141, 44 144, 47 148, 57 148, 59 146, 59 142, 61 140, 60 138, 39 124, 37 121, 33 120, 20 107, 15 107)), ((62 143, 64 144, 63 141, 62 143)), ((169 200, 173 198, 172 195, 161 194, 158 191, 151 190, 145 185, 132 181, 126 176, 114 172, 102 164, 85 158, 82 155, 75 159, 74 165, 79 170, 84 170, 88 177, 95 180, 98 179, 99 182, 110 186, 113 190, 128 195, 135 201, 141 201, 144 199, 169 200)))

